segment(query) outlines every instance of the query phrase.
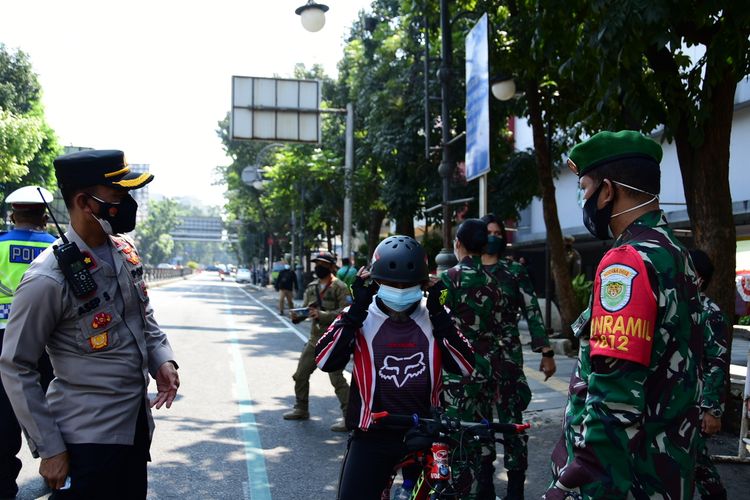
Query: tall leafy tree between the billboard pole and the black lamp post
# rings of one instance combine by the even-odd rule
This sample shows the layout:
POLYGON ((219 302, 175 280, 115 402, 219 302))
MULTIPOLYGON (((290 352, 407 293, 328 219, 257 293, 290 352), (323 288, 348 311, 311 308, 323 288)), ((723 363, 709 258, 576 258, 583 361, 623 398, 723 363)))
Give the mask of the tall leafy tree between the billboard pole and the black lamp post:
POLYGON ((354 23, 339 64, 339 101, 356 106, 356 195, 370 203, 355 217, 367 230, 370 252, 386 213, 397 232, 414 235, 414 216, 424 206, 425 179, 431 176, 420 135, 421 35, 400 7, 399 0, 373 2, 372 12, 354 23))

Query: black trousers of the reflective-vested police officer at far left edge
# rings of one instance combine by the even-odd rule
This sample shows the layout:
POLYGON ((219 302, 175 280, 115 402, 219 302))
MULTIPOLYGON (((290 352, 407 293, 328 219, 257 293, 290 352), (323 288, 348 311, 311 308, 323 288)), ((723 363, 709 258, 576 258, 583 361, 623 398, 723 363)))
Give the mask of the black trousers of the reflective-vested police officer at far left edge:
MULTIPOLYGON (((0 329, 0 353, 3 351, 5 330, 0 329)), ((45 352, 39 359, 39 370, 42 388, 46 391, 52 381, 52 365, 45 352)), ((21 427, 10 406, 0 380, 0 498, 14 497, 18 493, 16 479, 21 472, 21 461, 16 457, 21 450, 21 427)))

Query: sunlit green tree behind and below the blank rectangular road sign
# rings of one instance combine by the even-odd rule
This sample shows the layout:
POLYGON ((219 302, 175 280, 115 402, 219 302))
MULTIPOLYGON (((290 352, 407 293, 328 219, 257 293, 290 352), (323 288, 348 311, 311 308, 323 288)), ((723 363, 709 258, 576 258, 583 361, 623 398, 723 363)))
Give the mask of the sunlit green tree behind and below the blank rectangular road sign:
MULTIPOLYGON (((323 105, 336 107, 329 100, 332 81, 321 67, 306 69, 297 65, 294 76, 321 80, 323 105)), ((287 144, 272 149, 269 143, 233 141, 229 136, 229 120, 219 124, 217 133, 233 159, 221 174, 229 188, 228 222, 237 229, 236 251, 240 260, 263 259, 268 239, 274 242, 275 254, 289 251, 293 211, 297 220, 304 218, 301 253, 319 247, 322 242, 332 249, 334 235, 341 234, 343 219, 343 120, 326 115, 322 126, 324 142, 320 147, 287 144), (263 172, 262 189, 242 182, 241 173, 247 166, 263 172)))

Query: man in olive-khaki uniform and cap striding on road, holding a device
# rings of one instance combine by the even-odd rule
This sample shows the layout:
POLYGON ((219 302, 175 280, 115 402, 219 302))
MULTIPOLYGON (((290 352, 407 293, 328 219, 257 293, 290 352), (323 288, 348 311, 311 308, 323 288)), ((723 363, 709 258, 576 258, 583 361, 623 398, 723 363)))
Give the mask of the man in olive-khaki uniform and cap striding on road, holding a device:
MULTIPOLYGON (((337 279, 334 275, 336 270, 336 257, 329 252, 320 252, 314 259, 315 275, 318 279, 313 280, 305 288, 302 307, 307 307, 310 325, 310 339, 305 344, 297 362, 297 371, 294 372, 294 395, 295 404, 292 411, 283 415, 284 420, 307 420, 310 418, 308 400, 310 395, 310 375, 315 371, 315 345, 323 336, 328 326, 333 323, 336 316, 348 305, 352 298, 349 287, 337 279)), ((299 323, 304 320, 292 312, 292 321, 299 323)), ((343 370, 333 371, 328 374, 331 385, 336 392, 336 397, 341 404, 341 412, 346 416, 346 405, 349 402, 349 384, 343 375, 343 370)), ((331 426, 334 432, 346 432, 346 425, 342 418, 331 426)))

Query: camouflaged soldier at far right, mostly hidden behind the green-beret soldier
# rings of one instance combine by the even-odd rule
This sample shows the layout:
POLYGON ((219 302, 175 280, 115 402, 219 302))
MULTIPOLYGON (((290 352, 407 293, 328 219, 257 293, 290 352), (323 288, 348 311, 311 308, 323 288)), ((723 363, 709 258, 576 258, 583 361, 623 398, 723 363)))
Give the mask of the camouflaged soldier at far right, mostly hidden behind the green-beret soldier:
POLYGON ((690 258, 698 273, 701 304, 703 305, 703 394, 701 395, 700 443, 698 464, 695 468, 695 484, 702 498, 722 500, 727 491, 721 483, 719 471, 711 462, 706 448, 706 439, 721 430, 721 416, 724 413, 724 373, 727 369, 727 328, 729 322, 716 305, 709 299, 705 290, 714 274, 714 266, 702 250, 691 250, 690 258))

